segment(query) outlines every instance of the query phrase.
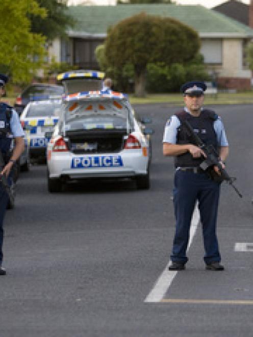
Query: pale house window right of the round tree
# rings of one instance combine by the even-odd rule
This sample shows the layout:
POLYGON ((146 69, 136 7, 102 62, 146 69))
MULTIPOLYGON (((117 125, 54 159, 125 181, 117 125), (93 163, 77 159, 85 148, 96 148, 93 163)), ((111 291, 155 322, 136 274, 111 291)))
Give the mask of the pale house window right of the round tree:
POLYGON ((200 53, 204 62, 209 64, 222 64, 222 40, 206 39, 201 41, 200 53))

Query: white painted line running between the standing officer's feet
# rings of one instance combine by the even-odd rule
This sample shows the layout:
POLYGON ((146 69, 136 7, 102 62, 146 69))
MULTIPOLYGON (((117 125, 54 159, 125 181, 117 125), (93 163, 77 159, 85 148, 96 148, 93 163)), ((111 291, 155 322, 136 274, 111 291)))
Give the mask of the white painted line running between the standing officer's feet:
MULTIPOLYGON (((190 245, 192 243, 192 239, 195 235, 195 232, 196 232, 196 229, 199 223, 199 219, 200 217, 199 217, 198 206, 196 205, 195 210, 192 215, 192 220, 191 220, 190 238, 189 238, 189 244, 188 244, 187 251, 189 250, 190 245)), ((147 295, 144 302, 156 303, 156 302, 160 302, 163 299, 164 295, 166 294, 166 292, 168 291, 170 287, 171 282, 173 281, 173 278, 178 273, 177 271, 168 270, 168 267, 170 265, 171 265, 171 261, 169 261, 164 271, 159 276, 154 288, 147 295)))

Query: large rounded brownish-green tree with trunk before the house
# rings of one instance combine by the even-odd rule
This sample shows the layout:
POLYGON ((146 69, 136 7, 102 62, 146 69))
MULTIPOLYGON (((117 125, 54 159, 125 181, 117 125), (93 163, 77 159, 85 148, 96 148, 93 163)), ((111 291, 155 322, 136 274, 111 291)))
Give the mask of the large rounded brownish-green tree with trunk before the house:
POLYGON ((135 70, 135 94, 145 94, 148 63, 186 63, 198 53, 197 32, 178 20, 140 13, 118 22, 108 31, 105 41, 107 62, 122 69, 132 64, 135 70))

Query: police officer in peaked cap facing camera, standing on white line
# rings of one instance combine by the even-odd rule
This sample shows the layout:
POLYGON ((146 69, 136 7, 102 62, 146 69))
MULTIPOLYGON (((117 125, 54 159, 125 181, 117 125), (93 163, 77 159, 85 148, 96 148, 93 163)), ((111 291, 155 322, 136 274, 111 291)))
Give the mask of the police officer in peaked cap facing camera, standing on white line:
MULTIPOLYGON (((199 168, 205 153, 193 144, 183 124, 187 120, 205 144, 213 145, 217 149, 220 163, 225 168, 229 144, 220 117, 214 111, 202 107, 206 88, 205 83, 199 81, 185 83, 181 87, 185 108, 175 113, 165 126, 163 154, 174 157, 176 168, 173 190, 176 224, 169 270, 185 269, 188 261, 186 250, 189 230, 196 201, 203 230, 206 269, 224 269, 220 264, 216 237, 220 183, 212 180, 199 168)), ((214 167, 214 170, 220 174, 218 167, 214 167)))

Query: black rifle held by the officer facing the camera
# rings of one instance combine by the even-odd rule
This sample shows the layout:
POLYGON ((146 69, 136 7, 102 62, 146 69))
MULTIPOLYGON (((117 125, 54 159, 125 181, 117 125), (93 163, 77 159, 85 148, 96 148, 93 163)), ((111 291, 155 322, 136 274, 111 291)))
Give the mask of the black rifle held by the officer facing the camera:
POLYGON ((192 137, 193 142, 195 143, 194 145, 198 146, 206 154, 205 160, 199 165, 199 167, 204 171, 207 171, 211 176, 211 178, 217 182, 222 183, 224 180, 226 180, 226 182, 233 187, 233 189, 236 191, 239 197, 242 198, 242 194, 233 184, 236 178, 232 178, 226 172, 226 170, 222 168, 222 165, 219 161, 219 154, 217 153, 213 145, 206 145, 203 141, 201 141, 201 139, 195 134, 192 126, 189 124, 187 120, 184 120, 183 123, 187 129, 189 136, 192 137), (214 166, 218 167, 220 175, 214 171, 213 169, 214 166))

